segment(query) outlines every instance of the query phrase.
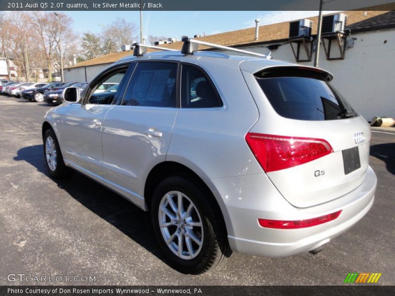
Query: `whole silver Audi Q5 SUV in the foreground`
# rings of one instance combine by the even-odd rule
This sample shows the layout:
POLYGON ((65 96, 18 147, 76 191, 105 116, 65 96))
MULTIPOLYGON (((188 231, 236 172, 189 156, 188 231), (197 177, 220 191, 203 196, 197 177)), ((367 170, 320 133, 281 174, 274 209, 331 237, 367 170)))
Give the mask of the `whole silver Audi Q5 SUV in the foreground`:
POLYGON ((232 251, 317 252, 368 212, 377 183, 369 125, 331 79, 216 52, 127 57, 47 112, 47 169, 77 170, 151 211, 184 273, 232 251), (98 91, 108 83, 115 91, 98 91))

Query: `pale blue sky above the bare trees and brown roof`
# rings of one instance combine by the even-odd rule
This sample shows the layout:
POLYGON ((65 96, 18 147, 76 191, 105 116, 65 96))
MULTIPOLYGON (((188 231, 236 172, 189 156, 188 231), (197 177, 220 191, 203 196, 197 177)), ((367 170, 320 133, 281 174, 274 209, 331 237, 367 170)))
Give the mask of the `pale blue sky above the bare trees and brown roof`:
MULTIPOLYGON (((74 19, 74 29, 100 33, 103 25, 125 18, 139 28, 139 11, 64 11, 74 19)), ((317 15, 317 11, 143 11, 144 36, 177 37, 195 34, 212 35, 254 26, 254 19, 260 25, 317 15)), ((139 33, 138 33, 139 36, 139 33)), ((140 41, 140 40, 136 40, 140 41)))

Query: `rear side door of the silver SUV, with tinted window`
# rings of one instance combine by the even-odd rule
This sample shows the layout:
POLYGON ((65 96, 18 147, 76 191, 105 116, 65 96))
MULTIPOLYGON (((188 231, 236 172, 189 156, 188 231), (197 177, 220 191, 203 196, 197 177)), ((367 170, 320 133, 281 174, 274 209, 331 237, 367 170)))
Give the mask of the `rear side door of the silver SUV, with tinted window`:
POLYGON ((103 175, 138 197, 148 172, 166 158, 178 112, 177 75, 177 62, 138 62, 104 120, 103 175))

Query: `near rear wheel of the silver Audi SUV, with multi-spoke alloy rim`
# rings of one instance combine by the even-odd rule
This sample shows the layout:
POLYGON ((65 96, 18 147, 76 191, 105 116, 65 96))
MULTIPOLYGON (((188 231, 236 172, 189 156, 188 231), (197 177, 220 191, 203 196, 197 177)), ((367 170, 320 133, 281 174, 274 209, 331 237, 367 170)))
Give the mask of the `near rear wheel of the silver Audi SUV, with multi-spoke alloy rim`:
POLYGON ((204 273, 232 254, 222 213, 201 184, 179 176, 162 180, 152 198, 151 217, 160 248, 170 265, 182 273, 204 273), (179 195, 181 215, 176 214, 179 195))

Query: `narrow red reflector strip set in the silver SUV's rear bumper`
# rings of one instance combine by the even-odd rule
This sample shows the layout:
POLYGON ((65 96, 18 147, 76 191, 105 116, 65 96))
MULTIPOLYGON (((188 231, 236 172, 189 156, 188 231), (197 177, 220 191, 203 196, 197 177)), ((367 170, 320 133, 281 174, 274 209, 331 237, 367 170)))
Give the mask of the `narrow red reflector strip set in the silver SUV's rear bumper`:
POLYGON ((339 217, 341 212, 342 211, 340 210, 332 214, 320 216, 313 219, 307 219, 307 220, 281 221, 281 220, 258 219, 258 222, 259 225, 266 228, 297 229, 297 228, 312 227, 335 220, 339 217))

